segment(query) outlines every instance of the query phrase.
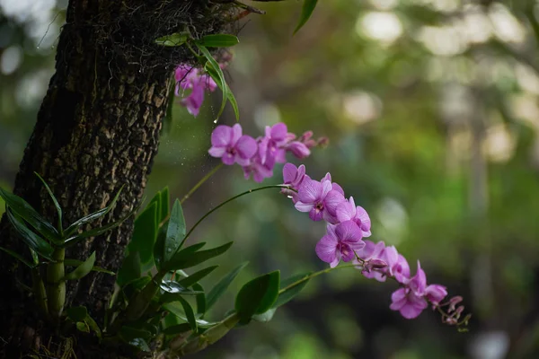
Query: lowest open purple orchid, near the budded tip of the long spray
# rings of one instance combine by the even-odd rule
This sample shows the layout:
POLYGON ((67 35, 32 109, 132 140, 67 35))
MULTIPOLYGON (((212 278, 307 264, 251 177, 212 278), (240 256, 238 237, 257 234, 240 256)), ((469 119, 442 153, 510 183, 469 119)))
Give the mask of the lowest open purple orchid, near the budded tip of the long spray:
POLYGON ((427 301, 423 298, 426 286, 427 278, 418 261, 416 275, 411 278, 407 287, 397 289, 393 292, 391 295, 392 303, 389 308, 392 311, 400 311, 402 317, 408 320, 417 318, 421 311, 428 306, 427 301))

